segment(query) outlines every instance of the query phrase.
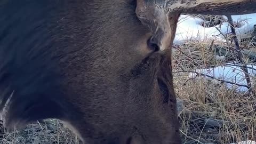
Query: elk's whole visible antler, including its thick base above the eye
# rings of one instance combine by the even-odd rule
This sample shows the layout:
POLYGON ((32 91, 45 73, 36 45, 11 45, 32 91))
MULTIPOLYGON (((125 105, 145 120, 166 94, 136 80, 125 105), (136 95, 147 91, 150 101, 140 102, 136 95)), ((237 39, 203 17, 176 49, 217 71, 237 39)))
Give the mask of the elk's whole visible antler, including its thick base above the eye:
POLYGON ((180 13, 215 15, 256 12, 256 0, 137 0, 136 14, 161 50, 170 49, 180 13))

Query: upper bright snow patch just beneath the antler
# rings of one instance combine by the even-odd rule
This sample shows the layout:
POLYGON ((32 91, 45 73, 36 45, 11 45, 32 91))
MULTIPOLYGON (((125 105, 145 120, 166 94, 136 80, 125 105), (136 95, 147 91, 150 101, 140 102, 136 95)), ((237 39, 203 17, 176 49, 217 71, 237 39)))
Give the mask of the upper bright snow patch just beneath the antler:
MULTIPOLYGON (((227 17, 223 16, 226 20, 227 17)), ((241 27, 236 28, 238 38, 243 37, 245 33, 253 30, 253 26, 256 25, 256 13, 244 14, 244 15, 232 15, 234 22, 239 23, 241 27)), ((174 39, 174 44, 182 44, 186 41, 197 40, 205 41, 206 39, 218 39, 219 41, 225 41, 223 35, 230 33, 228 22, 223 22, 221 26, 205 28, 201 26, 204 20, 201 18, 194 18, 189 15, 181 15, 179 18, 177 31, 174 39)))

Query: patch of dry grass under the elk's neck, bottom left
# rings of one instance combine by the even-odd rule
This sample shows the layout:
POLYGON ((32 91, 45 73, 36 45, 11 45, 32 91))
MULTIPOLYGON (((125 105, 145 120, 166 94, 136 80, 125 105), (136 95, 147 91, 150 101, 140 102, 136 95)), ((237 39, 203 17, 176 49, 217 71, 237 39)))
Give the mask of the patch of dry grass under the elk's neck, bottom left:
POLYGON ((21 131, 5 132, 0 134, 0 143, 82 143, 77 135, 67 129, 57 119, 46 119, 41 123, 29 124, 21 131))

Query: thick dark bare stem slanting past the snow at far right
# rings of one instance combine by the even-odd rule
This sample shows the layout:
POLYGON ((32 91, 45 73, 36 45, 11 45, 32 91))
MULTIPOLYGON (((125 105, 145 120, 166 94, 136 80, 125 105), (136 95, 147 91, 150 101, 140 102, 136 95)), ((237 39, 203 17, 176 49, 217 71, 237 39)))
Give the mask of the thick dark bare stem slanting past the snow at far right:
POLYGON ((248 73, 248 69, 247 69, 246 64, 244 62, 243 54, 241 53, 241 49, 239 47, 239 43, 238 43, 238 39, 237 39, 237 36, 236 36, 236 30, 235 30, 235 27, 234 27, 233 19, 232 19, 231 15, 227 15, 227 18, 228 18, 228 23, 230 24, 231 33, 234 35, 233 36, 233 41, 234 41, 235 47, 236 47, 236 54, 238 56, 239 61, 241 61, 241 63, 242 63, 241 69, 244 71, 245 79, 246 79, 247 85, 249 86, 249 88, 248 88, 249 92, 254 95, 254 91, 252 90, 252 83, 251 83, 251 80, 250 80, 250 75, 248 73))

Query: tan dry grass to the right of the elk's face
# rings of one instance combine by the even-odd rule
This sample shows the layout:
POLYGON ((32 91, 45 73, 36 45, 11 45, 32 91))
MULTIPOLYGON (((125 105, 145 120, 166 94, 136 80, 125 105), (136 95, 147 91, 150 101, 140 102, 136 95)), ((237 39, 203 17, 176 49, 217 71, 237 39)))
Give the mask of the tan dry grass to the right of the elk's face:
POLYGON ((173 52, 175 92, 185 101, 180 113, 182 138, 185 143, 256 140, 256 95, 228 90, 215 81, 187 77, 186 71, 224 65, 226 61, 216 59, 210 47, 211 42, 189 42, 173 52))

